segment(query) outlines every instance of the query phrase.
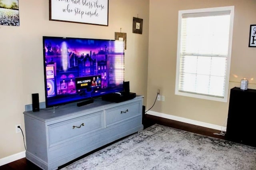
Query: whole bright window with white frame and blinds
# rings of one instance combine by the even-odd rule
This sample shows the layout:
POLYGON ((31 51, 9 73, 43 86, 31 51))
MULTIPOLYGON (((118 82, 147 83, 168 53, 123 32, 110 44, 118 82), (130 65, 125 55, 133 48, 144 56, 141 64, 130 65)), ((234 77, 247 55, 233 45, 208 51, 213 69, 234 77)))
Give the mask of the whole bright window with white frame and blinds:
POLYGON ((234 6, 178 16, 175 94, 227 102, 234 6))

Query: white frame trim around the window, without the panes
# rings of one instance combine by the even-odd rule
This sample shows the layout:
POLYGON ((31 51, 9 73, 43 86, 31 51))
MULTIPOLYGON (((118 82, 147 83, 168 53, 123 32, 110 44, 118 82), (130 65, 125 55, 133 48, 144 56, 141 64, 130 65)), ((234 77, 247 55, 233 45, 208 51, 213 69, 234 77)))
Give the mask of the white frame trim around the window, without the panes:
POLYGON ((202 8, 193 10, 180 10, 178 12, 178 38, 177 38, 177 61, 176 61, 176 82, 175 82, 175 95, 181 95, 186 97, 194 97, 199 99, 207 99, 212 101, 227 102, 228 101, 228 87, 229 87, 229 76, 230 76, 230 62, 231 62, 231 51, 232 51, 232 35, 233 35, 233 23, 234 23, 234 6, 225 6, 217 8, 202 8), (227 55, 227 69, 226 69, 226 79, 225 79, 225 90, 224 97, 214 97, 196 93, 188 93, 179 91, 180 84, 180 48, 181 48, 181 24, 182 24, 182 14, 191 13, 202 13, 202 12, 221 12, 230 11, 230 29, 229 29, 229 40, 228 40, 228 55, 227 55))

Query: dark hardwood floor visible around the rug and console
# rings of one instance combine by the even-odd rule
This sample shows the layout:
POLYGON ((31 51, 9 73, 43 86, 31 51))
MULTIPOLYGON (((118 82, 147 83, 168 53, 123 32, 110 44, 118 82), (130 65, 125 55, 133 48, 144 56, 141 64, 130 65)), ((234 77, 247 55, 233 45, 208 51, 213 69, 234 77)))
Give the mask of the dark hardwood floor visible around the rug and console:
MULTIPOLYGON (((143 115, 142 123, 144 125, 144 128, 150 127, 154 124, 158 124, 158 125, 164 125, 167 127, 173 127, 173 128, 177 128, 177 129, 181 129, 181 130, 186 130, 188 132, 194 132, 194 133, 203 134, 206 136, 212 136, 212 137, 216 137, 216 138, 225 139, 225 136, 218 135, 220 133, 219 130, 205 128, 205 127, 199 127, 196 125, 173 121, 170 119, 164 119, 164 118, 156 117, 156 116, 152 116, 152 115, 143 115), (217 133, 217 134, 214 134, 214 133, 217 133)), ((114 142, 112 142, 110 144, 113 144, 113 143, 114 142)), ((109 146, 110 144, 102 146, 101 148, 98 148, 97 150, 100 150, 106 146, 109 146)), ((89 154, 92 154, 93 152, 96 152, 97 150, 94 150, 88 154, 85 154, 85 155, 77 158, 76 160, 79 160, 85 156, 88 156, 89 154)), ((76 160, 73 160, 72 162, 75 162, 76 160)), ((68 164, 71 164, 72 162, 69 162, 68 164)), ((65 164, 65 165, 59 167, 59 169, 63 168, 64 166, 67 166, 68 164, 65 164)), ((29 160, 27 160, 26 158, 22 158, 20 160, 16 160, 9 164, 0 166, 0 170, 40 170, 40 168, 38 166, 36 166, 35 164, 33 164, 32 162, 30 162, 29 160)))

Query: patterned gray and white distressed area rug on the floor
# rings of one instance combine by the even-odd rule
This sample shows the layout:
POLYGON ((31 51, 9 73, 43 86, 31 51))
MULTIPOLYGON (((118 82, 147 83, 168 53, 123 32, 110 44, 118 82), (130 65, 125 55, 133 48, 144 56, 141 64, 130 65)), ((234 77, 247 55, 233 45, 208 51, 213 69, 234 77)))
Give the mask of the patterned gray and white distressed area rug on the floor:
POLYGON ((153 125, 62 170, 256 170, 256 148, 153 125))

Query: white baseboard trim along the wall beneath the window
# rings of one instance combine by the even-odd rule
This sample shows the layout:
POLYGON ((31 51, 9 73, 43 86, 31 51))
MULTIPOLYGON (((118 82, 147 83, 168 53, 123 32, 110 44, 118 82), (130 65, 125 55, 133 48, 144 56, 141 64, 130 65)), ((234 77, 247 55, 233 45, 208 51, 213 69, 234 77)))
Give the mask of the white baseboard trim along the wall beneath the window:
POLYGON ((170 120, 174 120, 174 121, 180 121, 180 122, 183 122, 183 123, 189 123, 189 124, 197 125, 197 126, 200 126, 200 127, 212 128, 212 129, 216 129, 216 130, 220 130, 220 131, 222 130, 222 131, 226 132, 226 127, 222 127, 222 126, 219 126, 219 125, 213 125, 213 124, 210 124, 210 123, 194 121, 192 119, 186 119, 186 118, 183 118, 183 117, 167 115, 165 113, 159 113, 159 112, 154 112, 154 111, 148 111, 146 114, 157 116, 157 117, 162 117, 162 118, 166 118, 166 119, 170 119, 170 120))

